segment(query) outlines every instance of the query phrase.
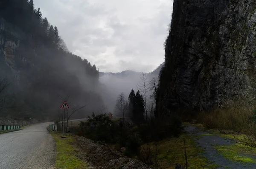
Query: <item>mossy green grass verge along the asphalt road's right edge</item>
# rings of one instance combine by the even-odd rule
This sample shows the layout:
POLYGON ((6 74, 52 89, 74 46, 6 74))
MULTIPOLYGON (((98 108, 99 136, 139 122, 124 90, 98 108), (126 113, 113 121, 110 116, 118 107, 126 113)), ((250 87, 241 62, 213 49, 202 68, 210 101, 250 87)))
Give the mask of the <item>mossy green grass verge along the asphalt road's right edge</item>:
POLYGON ((76 157, 76 151, 72 146, 74 142, 73 135, 66 135, 66 138, 61 138, 60 132, 50 132, 57 146, 57 160, 55 163, 56 169, 86 169, 88 164, 76 157))

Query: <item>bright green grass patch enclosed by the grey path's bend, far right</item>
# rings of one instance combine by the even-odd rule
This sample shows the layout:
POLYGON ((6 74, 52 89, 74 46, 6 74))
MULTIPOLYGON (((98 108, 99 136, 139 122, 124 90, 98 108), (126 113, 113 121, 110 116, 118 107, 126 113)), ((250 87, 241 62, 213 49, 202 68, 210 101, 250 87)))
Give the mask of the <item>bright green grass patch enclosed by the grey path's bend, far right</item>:
POLYGON ((256 149, 236 143, 227 146, 214 146, 214 148, 227 158, 236 163, 256 163, 252 156, 256 155, 256 149))

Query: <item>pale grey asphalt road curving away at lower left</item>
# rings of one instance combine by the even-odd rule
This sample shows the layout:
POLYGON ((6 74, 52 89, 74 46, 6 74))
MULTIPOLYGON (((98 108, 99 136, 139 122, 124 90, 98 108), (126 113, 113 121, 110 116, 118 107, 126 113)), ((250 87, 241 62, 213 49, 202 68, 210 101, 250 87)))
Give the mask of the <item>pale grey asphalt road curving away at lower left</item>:
POLYGON ((56 149, 46 129, 49 124, 0 134, 0 169, 53 169, 56 149))

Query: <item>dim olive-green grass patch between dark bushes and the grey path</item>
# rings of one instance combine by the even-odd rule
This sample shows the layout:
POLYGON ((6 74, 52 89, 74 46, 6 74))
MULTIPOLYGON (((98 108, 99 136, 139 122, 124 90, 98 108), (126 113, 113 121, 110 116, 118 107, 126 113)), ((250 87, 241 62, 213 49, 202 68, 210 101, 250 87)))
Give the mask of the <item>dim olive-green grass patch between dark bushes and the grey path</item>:
MULTIPOLYGON (((184 155, 184 144, 183 139, 186 140, 186 154, 187 161, 190 169, 195 168, 205 168, 214 169, 218 167, 207 158, 204 157, 204 149, 201 146, 197 146, 195 140, 186 134, 180 135, 179 138, 169 138, 160 141, 157 146, 157 161, 159 167, 163 169, 175 168, 176 163, 181 163, 185 165, 185 155, 184 155)), ((149 144, 150 149, 154 153, 154 143, 149 144)))

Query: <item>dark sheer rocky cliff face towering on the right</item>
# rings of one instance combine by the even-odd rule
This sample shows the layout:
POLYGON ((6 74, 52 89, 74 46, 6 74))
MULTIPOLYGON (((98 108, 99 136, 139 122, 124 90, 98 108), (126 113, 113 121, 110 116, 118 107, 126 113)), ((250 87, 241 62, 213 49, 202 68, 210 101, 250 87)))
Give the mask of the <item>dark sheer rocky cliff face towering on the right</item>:
POLYGON ((174 0, 170 30, 160 77, 162 113, 255 98, 255 0, 174 0))

